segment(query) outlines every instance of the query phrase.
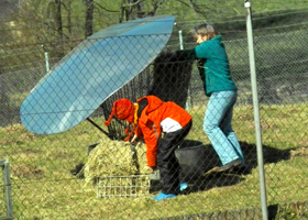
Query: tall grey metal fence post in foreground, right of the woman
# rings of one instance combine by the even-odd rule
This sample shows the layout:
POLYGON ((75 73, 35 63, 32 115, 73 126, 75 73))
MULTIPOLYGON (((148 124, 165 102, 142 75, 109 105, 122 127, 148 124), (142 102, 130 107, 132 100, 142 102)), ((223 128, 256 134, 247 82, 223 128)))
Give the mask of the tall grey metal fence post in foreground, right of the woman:
POLYGON ((249 1, 245 1, 244 6, 246 8, 246 29, 248 29, 251 84, 252 84, 252 95, 253 95, 255 135, 256 135, 256 153, 257 153, 257 165, 258 165, 258 175, 260 175, 261 206, 262 206, 263 220, 267 220, 268 219, 268 213, 267 213, 267 199, 266 199, 264 162, 263 162, 262 132, 261 132, 260 109, 258 109, 257 86, 256 86, 256 72, 255 72, 255 58, 254 58, 254 46, 253 46, 251 3, 249 1))

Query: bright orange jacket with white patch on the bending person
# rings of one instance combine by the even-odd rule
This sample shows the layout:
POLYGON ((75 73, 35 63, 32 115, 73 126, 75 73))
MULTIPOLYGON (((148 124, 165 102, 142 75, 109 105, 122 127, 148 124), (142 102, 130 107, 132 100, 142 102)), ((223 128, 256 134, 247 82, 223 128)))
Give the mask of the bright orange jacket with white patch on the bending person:
POLYGON ((157 143, 162 132, 168 133, 185 127, 190 114, 175 102, 164 102, 155 96, 145 96, 148 105, 143 109, 135 134, 143 135, 146 144, 146 160, 148 166, 156 166, 157 143))

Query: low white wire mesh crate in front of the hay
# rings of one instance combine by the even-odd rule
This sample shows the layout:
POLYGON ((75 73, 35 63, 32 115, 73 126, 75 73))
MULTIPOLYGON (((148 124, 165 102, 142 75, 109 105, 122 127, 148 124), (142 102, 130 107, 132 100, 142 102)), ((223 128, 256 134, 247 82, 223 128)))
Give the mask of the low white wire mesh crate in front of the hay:
POLYGON ((142 197, 150 194, 150 175, 101 176, 97 179, 97 197, 142 197))

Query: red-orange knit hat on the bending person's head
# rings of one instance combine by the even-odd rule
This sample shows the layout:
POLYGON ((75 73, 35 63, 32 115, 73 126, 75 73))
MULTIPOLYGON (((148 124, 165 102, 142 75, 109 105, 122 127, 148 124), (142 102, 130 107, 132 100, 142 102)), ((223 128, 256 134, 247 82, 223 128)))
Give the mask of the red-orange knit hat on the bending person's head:
POLYGON ((120 120, 125 120, 130 123, 134 122, 134 103, 129 99, 119 99, 113 101, 112 111, 109 119, 105 122, 106 125, 110 124, 111 119, 116 116, 120 120))

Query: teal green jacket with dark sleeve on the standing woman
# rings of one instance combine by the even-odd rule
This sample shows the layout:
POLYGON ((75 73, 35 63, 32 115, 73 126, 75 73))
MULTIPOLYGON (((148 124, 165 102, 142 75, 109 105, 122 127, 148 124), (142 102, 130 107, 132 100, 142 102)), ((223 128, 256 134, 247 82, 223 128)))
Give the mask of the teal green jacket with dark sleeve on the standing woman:
POLYGON ((207 96, 211 96, 215 91, 237 90, 230 75, 229 59, 221 35, 200 43, 193 51, 183 51, 179 54, 199 59, 198 67, 207 96))

